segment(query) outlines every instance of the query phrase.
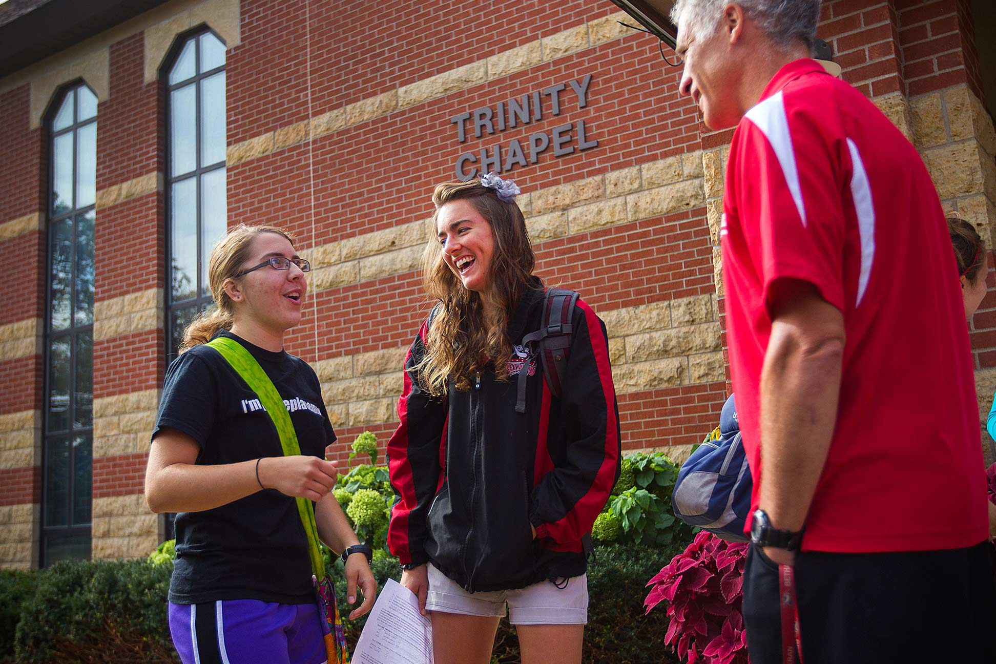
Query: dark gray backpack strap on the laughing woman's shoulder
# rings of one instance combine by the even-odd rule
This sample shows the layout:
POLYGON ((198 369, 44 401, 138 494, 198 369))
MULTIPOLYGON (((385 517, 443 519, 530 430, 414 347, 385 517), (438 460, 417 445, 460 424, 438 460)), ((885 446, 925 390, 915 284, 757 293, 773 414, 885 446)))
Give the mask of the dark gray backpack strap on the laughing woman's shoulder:
POLYGON ((526 412, 526 378, 529 374, 529 360, 537 353, 543 362, 543 375, 550 392, 561 395, 561 383, 564 371, 567 369, 567 359, 571 353, 571 334, 574 326, 574 308, 578 303, 578 294, 566 289, 547 289, 543 298, 543 327, 536 332, 526 334, 522 344, 530 350, 522 370, 519 371, 518 398, 515 404, 517 413, 526 412))

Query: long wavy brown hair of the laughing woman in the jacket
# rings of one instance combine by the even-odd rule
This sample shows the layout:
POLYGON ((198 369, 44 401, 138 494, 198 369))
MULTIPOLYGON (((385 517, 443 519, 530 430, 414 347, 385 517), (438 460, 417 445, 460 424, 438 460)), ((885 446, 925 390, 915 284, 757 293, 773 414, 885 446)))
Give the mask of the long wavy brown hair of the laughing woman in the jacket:
POLYGON ((513 201, 498 199, 493 189, 479 180, 440 184, 432 192, 430 239, 422 255, 423 284, 440 307, 432 319, 426 352, 419 363, 422 389, 441 396, 447 385, 470 389, 470 378, 491 362, 499 380, 507 380, 506 365, 512 357, 508 324, 522 296, 536 288, 533 268, 536 257, 526 230, 522 210, 513 201), (465 200, 484 217, 494 237, 494 253, 488 267, 488 283, 497 314, 485 320, 481 296, 464 288, 443 260, 436 237, 439 209, 446 203, 465 200))

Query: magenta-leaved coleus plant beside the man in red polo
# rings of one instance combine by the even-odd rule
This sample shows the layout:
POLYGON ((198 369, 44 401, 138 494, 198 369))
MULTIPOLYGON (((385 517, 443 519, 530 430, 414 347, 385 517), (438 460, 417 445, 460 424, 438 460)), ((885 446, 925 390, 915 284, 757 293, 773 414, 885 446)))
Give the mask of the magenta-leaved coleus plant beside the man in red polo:
POLYGON ((747 543, 702 531, 648 582, 646 612, 666 600, 664 644, 689 664, 748 664, 743 571, 747 543))

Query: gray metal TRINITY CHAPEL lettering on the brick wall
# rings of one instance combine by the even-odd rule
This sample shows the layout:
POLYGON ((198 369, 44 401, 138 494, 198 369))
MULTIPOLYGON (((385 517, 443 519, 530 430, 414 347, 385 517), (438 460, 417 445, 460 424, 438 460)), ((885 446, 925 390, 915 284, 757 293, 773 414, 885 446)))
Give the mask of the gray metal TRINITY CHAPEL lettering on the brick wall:
MULTIPOLYGON (((468 134, 473 131, 474 137, 497 133, 512 129, 520 124, 530 124, 543 119, 544 98, 550 100, 550 111, 553 115, 561 114, 565 107, 576 104, 579 109, 588 106, 588 91, 592 85, 592 75, 559 83, 556 86, 527 93, 521 98, 512 98, 499 102, 497 106, 484 107, 473 111, 465 111, 453 115, 449 121, 456 125, 456 135, 459 141, 466 142, 468 134)), ((578 151, 597 147, 599 141, 590 138, 591 127, 585 125, 585 120, 569 122, 555 126, 549 132, 537 131, 525 140, 513 138, 507 145, 498 143, 490 148, 482 147, 477 152, 464 152, 456 158, 454 173, 461 182, 483 175, 487 172, 506 173, 513 166, 527 166, 536 163, 540 154, 553 149, 555 157, 562 157, 578 151)))

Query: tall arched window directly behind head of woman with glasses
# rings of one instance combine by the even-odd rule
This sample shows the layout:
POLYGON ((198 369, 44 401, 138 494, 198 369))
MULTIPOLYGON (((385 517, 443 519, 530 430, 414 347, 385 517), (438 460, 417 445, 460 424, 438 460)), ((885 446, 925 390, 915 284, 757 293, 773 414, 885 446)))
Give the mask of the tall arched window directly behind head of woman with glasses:
POLYGON ((211 304, 207 262, 227 228, 225 45, 209 30, 167 60, 166 362, 183 329, 211 304))

